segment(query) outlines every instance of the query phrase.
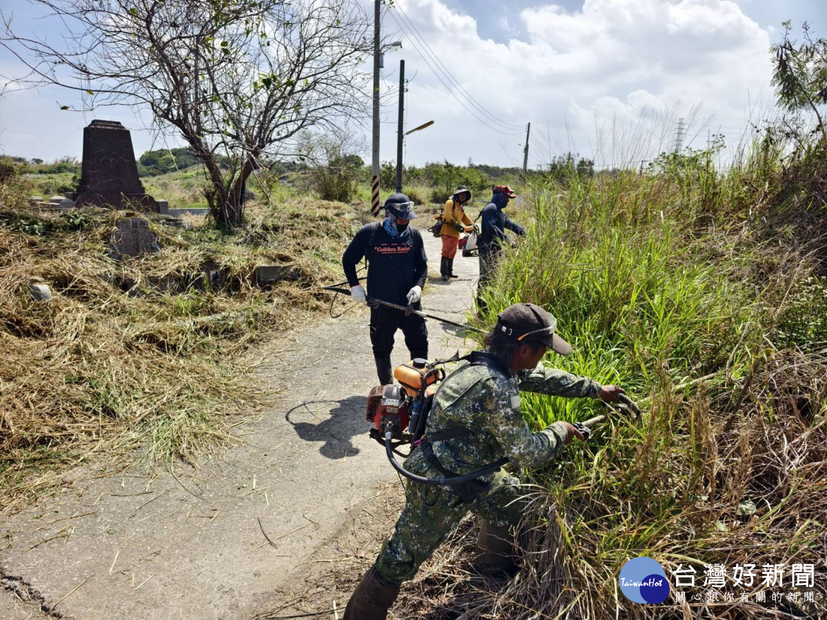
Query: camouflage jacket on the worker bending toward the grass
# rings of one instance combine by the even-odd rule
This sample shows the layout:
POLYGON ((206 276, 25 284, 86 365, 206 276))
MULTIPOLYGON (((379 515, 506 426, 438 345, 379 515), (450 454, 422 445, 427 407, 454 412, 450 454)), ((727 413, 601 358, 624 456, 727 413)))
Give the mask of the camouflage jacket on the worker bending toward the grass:
MULTIPOLYGON (((510 375, 487 365, 466 364, 454 370, 437 390, 425 436, 457 427, 475 433, 432 441, 442 466, 457 474, 478 470, 503 456, 518 466, 541 465, 565 445, 566 429, 555 422, 543 431, 531 432, 520 411, 519 391, 597 398, 600 388, 592 379, 542 364, 510 375)), ((423 473, 432 470, 418 452, 409 459, 410 465, 423 473)))

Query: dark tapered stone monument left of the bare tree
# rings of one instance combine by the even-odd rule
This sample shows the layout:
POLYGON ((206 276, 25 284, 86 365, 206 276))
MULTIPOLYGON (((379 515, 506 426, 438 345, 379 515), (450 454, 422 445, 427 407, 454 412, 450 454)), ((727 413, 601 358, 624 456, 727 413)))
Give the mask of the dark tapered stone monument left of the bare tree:
POLYGON ((84 127, 84 162, 78 191, 67 194, 75 207, 111 207, 159 212, 144 191, 129 131, 119 122, 93 121, 84 127))

